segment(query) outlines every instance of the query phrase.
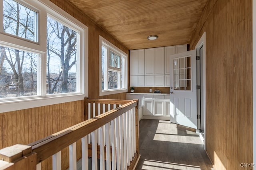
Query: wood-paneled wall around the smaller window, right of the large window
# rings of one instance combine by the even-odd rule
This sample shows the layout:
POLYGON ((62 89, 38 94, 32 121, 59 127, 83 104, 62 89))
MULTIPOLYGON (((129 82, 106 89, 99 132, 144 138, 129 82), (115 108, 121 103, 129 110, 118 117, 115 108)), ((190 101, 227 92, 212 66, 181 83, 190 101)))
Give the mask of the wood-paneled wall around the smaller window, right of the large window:
MULTIPOLYGON (((94 23, 90 18, 84 15, 80 10, 74 7, 71 3, 66 0, 50 0, 62 10, 68 12, 71 16, 84 23, 89 28, 89 45, 88 45, 88 97, 89 98, 104 98, 104 99, 125 99, 125 94, 116 94, 110 96, 99 96, 99 35, 110 41, 116 47, 124 51, 124 53, 129 54, 129 50, 122 45, 118 40, 114 39, 110 34, 100 28, 96 23, 94 23)), ((128 59, 129 61, 129 59, 128 59)), ((128 67, 130 68, 130 67, 128 67)), ((129 71, 129 69, 128 69, 129 71)))

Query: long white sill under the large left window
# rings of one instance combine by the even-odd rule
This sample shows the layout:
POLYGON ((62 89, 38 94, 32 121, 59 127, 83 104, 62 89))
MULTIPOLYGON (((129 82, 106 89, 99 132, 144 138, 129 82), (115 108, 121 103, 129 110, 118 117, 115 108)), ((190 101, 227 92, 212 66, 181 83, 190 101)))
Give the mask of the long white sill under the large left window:
POLYGON ((34 107, 41 107, 53 104, 60 104, 66 102, 74 102, 78 100, 84 100, 84 94, 70 94, 61 96, 47 96, 47 97, 32 97, 22 98, 20 100, 9 100, 0 102, 0 113, 29 109, 34 107))

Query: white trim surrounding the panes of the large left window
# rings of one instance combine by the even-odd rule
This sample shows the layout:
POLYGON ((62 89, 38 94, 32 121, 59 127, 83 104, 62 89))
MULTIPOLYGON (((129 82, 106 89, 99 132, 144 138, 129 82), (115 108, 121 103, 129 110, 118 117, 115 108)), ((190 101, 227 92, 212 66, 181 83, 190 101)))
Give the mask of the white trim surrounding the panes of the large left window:
MULTIPOLYGON (((84 97, 88 96, 88 27, 76 20, 76 18, 70 16, 64 10, 56 6, 50 1, 42 1, 42 0, 22 0, 19 1, 21 4, 28 4, 28 6, 32 6, 32 9, 38 8, 38 31, 40 33, 40 29, 46 29, 46 16, 47 14, 54 15, 56 17, 64 17, 66 20, 62 20, 62 23, 68 23, 68 25, 75 25, 74 28, 77 28, 80 31, 80 44, 84 45, 81 47, 80 53, 80 92, 78 93, 67 93, 67 94, 59 94, 59 95, 46 95, 40 94, 41 96, 23 96, 18 98, 6 98, 0 101, 0 113, 15 111, 21 109, 28 109, 33 107, 47 106, 52 104, 60 104, 65 102, 73 102, 78 100, 84 100, 84 97), (43 20, 45 19, 45 20, 43 20), (72 21, 74 24, 70 24, 72 21)), ((0 14, 2 16, 2 14, 0 14)), ((41 56, 42 66, 39 65, 38 70, 41 72, 46 70, 46 53, 44 52, 46 47, 46 35, 39 35, 39 43, 27 41, 22 38, 12 37, 6 35, 4 33, 0 33, 0 39, 4 41, 0 41, 3 45, 14 47, 16 49, 28 50, 33 53, 37 53, 41 56), (45 46, 44 46, 45 43, 45 46), (20 44, 22 46, 14 45, 20 44), (41 67, 41 68, 40 68, 41 67)), ((40 58, 40 57, 39 57, 40 58)), ((41 84, 46 85, 46 77, 40 80, 41 84), (43 81, 43 82, 41 82, 43 81)), ((42 85, 42 88, 46 88, 42 85)), ((44 92, 46 89, 41 90, 44 92)))

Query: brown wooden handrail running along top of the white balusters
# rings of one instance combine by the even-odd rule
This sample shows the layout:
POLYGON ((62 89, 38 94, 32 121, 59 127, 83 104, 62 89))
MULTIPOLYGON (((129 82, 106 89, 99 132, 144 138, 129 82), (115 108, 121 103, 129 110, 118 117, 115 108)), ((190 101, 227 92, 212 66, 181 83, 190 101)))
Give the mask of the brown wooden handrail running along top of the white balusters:
MULTIPOLYGON (((104 104, 106 104, 106 102, 108 102, 108 104, 111 102, 111 100, 87 100, 97 103, 103 102, 104 104)), ((99 127, 102 127, 103 125, 122 115, 126 111, 132 109, 133 107, 136 107, 138 103, 138 101, 136 100, 130 100, 128 101, 129 103, 124 100, 120 100, 118 102, 121 101, 126 104, 117 107, 116 109, 112 109, 111 111, 107 111, 106 113, 103 113, 96 117, 93 117, 92 119, 88 119, 86 121, 78 123, 77 125, 64 129, 63 131, 54 133, 49 137, 41 139, 40 141, 28 144, 32 147, 32 151, 36 152, 37 154, 37 164, 52 156, 53 154, 59 152, 60 150, 64 149, 65 147, 68 147, 69 145, 88 135, 92 131, 95 131, 99 127)), ((114 102, 113 104, 117 104, 118 102, 114 102)))

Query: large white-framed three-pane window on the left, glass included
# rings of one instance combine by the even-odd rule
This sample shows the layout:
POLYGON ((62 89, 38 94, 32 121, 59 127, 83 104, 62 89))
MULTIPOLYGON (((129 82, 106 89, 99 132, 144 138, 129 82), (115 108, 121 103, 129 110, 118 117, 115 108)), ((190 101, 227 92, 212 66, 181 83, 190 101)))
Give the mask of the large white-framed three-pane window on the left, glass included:
MULTIPOLYGON (((46 100, 57 104, 83 99, 87 92, 88 27, 52 2, 2 2, 0 104, 62 98, 46 100)), ((42 102, 33 107, 37 106, 43 106, 42 102)), ((15 109, 4 111, 10 110, 15 109)))

